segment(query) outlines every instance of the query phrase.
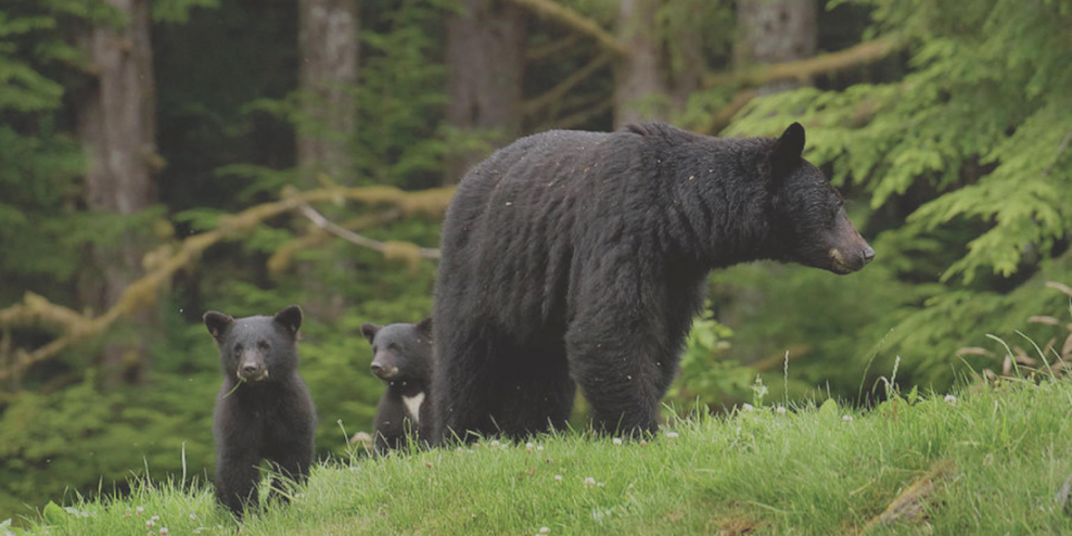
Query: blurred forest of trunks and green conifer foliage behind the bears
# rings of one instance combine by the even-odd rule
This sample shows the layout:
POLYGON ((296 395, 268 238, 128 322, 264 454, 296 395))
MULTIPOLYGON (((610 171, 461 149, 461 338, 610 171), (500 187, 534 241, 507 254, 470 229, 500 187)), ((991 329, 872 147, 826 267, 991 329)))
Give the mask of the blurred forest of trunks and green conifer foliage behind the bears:
POLYGON ((548 129, 800 122, 878 252, 715 271, 669 406, 1062 375, 1069 28, 1072 0, 5 0, 0 519, 210 474, 210 309, 301 305, 318 456, 359 448, 361 323, 430 314, 454 186, 548 129))

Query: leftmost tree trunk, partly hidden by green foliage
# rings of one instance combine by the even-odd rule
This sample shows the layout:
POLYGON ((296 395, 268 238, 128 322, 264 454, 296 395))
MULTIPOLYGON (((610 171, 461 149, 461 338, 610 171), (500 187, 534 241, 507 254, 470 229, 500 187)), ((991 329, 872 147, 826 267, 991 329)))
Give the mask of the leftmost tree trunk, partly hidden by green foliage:
MULTIPOLYGON (((88 161, 86 205, 90 212, 135 214, 154 202, 152 174, 156 153, 155 94, 150 47, 150 0, 107 0, 125 17, 120 27, 102 24, 85 41, 92 88, 78 107, 79 137, 88 161)), ((125 231, 114 245, 90 247, 85 280, 85 305, 106 310, 123 290, 142 273, 146 237, 125 231)), ((151 298, 150 298, 151 299, 151 298)), ((144 380, 148 341, 155 315, 145 310, 131 317, 136 335, 104 344, 106 385, 144 380)))

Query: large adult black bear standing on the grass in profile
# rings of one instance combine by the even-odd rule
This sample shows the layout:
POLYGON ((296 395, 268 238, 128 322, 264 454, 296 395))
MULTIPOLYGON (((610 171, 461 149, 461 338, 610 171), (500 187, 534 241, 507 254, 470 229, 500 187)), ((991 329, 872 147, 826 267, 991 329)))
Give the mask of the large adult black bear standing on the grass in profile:
POLYGON ((443 225, 439 441, 561 427, 576 384, 598 430, 652 432, 712 269, 863 268, 875 252, 803 149, 795 123, 778 139, 642 124, 529 136, 473 167, 443 225))

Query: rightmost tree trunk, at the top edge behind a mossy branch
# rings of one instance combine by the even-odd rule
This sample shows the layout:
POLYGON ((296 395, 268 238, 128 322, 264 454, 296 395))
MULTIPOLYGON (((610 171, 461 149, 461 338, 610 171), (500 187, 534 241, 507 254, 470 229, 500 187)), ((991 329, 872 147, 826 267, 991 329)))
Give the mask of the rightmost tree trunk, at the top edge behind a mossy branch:
MULTIPOLYGON (((755 63, 783 63, 815 55, 818 46, 815 0, 738 0, 733 50, 737 68, 755 63)), ((761 86, 758 94, 801 87, 795 79, 761 86)))

